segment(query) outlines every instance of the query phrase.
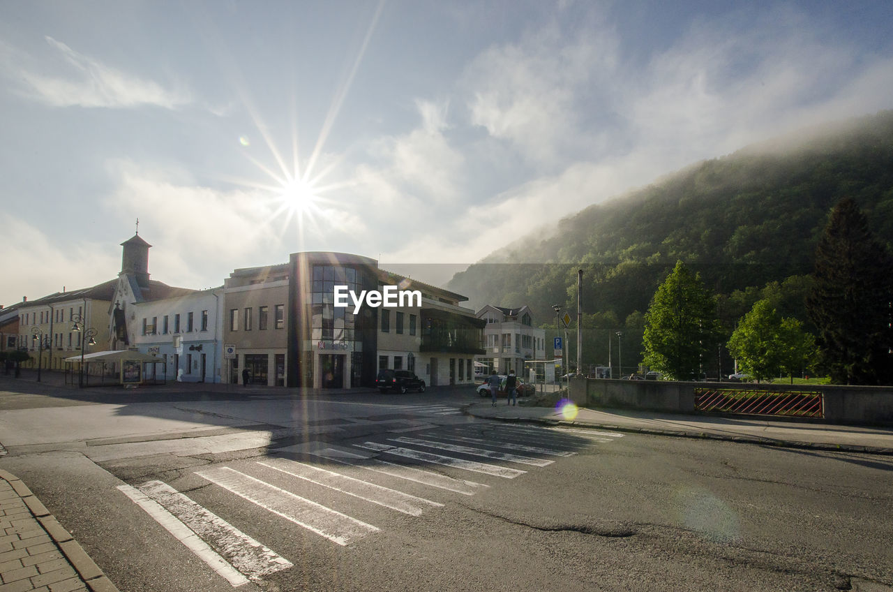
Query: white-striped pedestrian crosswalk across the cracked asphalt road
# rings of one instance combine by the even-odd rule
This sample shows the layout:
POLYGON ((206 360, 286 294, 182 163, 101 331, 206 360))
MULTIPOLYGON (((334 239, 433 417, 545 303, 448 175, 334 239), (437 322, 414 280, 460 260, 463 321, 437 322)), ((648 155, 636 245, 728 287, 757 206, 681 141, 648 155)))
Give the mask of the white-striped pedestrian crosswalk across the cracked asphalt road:
MULTIPOLYGON (((440 406, 415 407, 416 413, 441 411, 440 406)), ((206 467, 194 475, 232 495, 223 495, 227 503, 252 504, 286 526, 346 546, 382 528, 370 523, 379 521, 369 518, 374 512, 358 507, 378 506, 418 518, 443 508, 452 495, 478 495, 620 437, 559 427, 456 425, 412 435, 391 431, 341 444, 309 442, 300 451, 281 449, 261 460, 206 467)), ((233 587, 292 566, 162 481, 118 489, 233 587)))

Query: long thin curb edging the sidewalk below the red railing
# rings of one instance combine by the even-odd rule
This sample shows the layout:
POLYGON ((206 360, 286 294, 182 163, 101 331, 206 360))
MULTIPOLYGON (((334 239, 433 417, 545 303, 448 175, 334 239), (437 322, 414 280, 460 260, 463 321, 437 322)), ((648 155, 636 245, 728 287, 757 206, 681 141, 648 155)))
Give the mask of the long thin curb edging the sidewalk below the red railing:
POLYGON ((814 442, 795 442, 793 440, 779 440, 777 438, 764 438, 759 436, 724 436, 710 432, 697 432, 686 430, 657 429, 653 427, 629 427, 615 426, 613 424, 597 424, 588 421, 564 421, 561 419, 542 418, 512 418, 505 416, 476 415, 470 408, 463 408, 466 414, 480 419, 496 419, 505 423, 530 423, 545 424, 547 426, 572 426, 588 427, 592 429, 611 429, 615 432, 627 432, 631 434, 647 434, 649 436, 673 436, 680 438, 692 438, 697 440, 720 440, 723 442, 739 442, 742 444, 759 444, 763 446, 777 446, 779 448, 797 448, 822 452, 859 452, 863 454, 879 454, 881 456, 893 455, 893 448, 881 448, 880 446, 862 446, 858 444, 822 444, 814 442))

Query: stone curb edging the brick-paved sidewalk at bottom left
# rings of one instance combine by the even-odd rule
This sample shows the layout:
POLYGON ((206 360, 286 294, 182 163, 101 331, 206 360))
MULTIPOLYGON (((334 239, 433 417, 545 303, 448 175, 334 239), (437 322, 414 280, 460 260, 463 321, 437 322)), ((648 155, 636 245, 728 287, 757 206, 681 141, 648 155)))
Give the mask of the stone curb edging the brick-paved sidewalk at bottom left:
POLYGON ((53 539, 53 542, 59 550, 65 555, 65 558, 71 563, 74 571, 78 572, 80 579, 88 586, 92 592, 119 592, 118 588, 108 579, 104 572, 99 569, 90 556, 84 551, 83 547, 74 540, 71 533, 64 529, 63 525, 56 520, 46 506, 38 500, 37 496, 31 493, 31 490, 22 482, 22 480, 9 471, 0 469, 0 479, 4 479, 16 494, 21 497, 21 501, 28 506, 32 516, 38 521, 46 534, 53 539))

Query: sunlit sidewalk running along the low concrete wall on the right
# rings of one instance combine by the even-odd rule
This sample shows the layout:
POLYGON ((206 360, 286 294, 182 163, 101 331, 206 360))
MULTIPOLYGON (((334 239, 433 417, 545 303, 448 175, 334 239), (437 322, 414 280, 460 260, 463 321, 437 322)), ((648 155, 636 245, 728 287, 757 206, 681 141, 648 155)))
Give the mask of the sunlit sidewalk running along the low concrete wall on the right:
POLYGON ((486 402, 472 403, 465 412, 478 418, 503 421, 598 427, 660 436, 730 440, 836 452, 893 454, 893 428, 888 427, 830 426, 745 416, 728 418, 611 409, 580 409, 576 417, 573 417, 572 414, 565 416, 550 407, 508 406, 505 401, 492 407, 489 399, 486 402))

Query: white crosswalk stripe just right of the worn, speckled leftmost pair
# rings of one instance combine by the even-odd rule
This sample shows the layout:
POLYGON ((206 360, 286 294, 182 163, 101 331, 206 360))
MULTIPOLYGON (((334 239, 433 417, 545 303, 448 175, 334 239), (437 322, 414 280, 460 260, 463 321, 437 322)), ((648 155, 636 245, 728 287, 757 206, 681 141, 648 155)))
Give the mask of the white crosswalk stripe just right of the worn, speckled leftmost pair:
POLYGON ((199 470, 196 475, 338 545, 344 546, 371 532, 380 531, 378 527, 320 503, 311 502, 236 469, 221 467, 199 470))

